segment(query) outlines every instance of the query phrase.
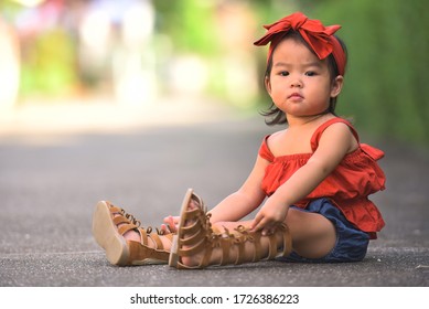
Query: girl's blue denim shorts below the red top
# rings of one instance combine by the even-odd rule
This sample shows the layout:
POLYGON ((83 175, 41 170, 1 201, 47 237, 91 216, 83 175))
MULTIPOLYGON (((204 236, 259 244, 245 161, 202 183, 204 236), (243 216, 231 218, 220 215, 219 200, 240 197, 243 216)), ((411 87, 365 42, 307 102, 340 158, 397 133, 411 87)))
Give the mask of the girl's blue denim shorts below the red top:
POLYGON ((335 207, 329 199, 314 200, 305 209, 291 206, 303 212, 319 213, 330 220, 336 231, 336 243, 334 248, 322 258, 305 258, 292 252, 287 257, 278 258, 285 262, 305 262, 305 263, 339 263, 339 262, 360 262, 366 255, 369 243, 369 235, 356 228, 350 223, 341 211, 335 207))

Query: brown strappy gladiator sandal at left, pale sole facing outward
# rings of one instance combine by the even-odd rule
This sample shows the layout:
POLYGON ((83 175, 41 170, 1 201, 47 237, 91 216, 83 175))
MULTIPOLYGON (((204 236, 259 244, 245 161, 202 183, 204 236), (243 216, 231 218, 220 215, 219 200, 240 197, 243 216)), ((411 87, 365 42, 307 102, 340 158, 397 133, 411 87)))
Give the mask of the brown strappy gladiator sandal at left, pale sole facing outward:
POLYGON ((106 251, 107 259, 118 266, 167 264, 170 253, 164 249, 160 236, 168 237, 170 242, 173 237, 170 232, 140 227, 140 221, 133 215, 106 201, 100 201, 96 205, 93 235, 98 245, 106 251), (140 234, 140 242, 127 241, 124 237, 131 230, 140 234), (154 248, 149 247, 149 238, 154 248))

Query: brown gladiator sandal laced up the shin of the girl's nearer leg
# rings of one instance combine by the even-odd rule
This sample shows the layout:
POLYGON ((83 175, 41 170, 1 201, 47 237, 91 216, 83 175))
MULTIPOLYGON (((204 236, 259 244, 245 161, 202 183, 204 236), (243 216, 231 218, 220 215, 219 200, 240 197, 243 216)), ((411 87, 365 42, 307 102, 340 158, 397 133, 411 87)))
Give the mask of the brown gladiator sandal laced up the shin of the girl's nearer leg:
POLYGON ((178 234, 173 236, 169 265, 176 268, 204 268, 210 265, 243 264, 258 260, 275 259, 288 256, 292 248, 291 235, 286 224, 281 224, 275 234, 262 236, 260 232, 250 232, 243 225, 232 233, 224 228, 223 232, 214 231, 210 223, 211 215, 206 213, 203 201, 190 189, 186 192, 181 210, 181 221, 178 234), (189 203, 193 200, 199 207, 189 210, 189 203), (278 248, 277 237, 282 237, 282 247, 278 248), (260 241, 268 237, 269 251, 262 256, 260 241), (253 256, 245 255, 245 244, 254 245, 253 256), (214 248, 222 248, 222 257, 218 263, 211 262, 214 248), (233 248, 237 249, 236 258, 230 256, 233 248), (182 263, 182 257, 192 257, 203 253, 203 257, 195 266, 182 263))

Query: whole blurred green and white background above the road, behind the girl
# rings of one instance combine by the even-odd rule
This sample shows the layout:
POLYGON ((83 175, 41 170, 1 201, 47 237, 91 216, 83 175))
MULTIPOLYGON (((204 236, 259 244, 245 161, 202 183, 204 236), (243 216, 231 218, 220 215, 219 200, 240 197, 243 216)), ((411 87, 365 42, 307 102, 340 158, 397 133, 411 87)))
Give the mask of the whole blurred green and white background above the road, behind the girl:
POLYGON ((1 0, 0 105, 111 94, 268 104, 262 24, 300 10, 341 24, 350 61, 337 111, 374 137, 429 146, 426 0, 1 0))

